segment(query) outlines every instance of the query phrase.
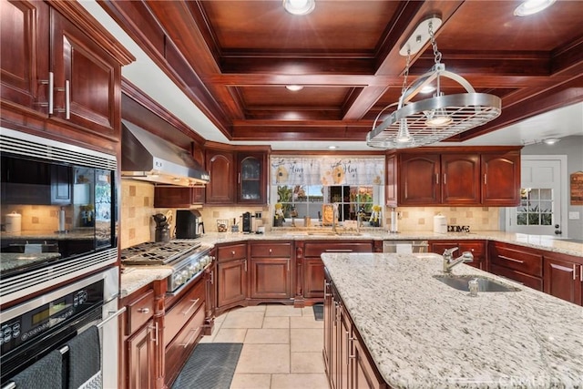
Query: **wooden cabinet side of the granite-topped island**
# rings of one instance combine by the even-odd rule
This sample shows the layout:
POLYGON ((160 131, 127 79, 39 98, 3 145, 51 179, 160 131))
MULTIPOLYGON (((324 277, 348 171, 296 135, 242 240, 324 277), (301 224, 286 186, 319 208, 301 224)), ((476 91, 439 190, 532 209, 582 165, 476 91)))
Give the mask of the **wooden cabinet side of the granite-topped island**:
POLYGON ((333 287, 324 283, 324 367, 332 389, 386 389, 350 314, 333 287))

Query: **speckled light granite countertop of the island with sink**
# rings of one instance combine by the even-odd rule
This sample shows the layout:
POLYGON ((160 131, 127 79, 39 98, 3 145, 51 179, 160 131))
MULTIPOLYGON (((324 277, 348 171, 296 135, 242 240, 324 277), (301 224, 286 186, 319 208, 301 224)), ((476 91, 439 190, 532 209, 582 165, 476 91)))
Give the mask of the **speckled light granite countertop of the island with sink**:
POLYGON ((436 254, 322 260, 379 372, 394 388, 583 386, 583 308, 465 264, 520 292, 457 291, 436 254))

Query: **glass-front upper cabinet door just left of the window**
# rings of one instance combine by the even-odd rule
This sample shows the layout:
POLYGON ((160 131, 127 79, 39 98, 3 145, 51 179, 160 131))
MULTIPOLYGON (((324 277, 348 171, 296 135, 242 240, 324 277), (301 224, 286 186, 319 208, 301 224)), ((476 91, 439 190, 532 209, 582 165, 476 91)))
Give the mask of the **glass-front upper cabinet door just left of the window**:
POLYGON ((237 202, 264 204, 266 202, 266 155, 240 154, 237 174, 237 202))

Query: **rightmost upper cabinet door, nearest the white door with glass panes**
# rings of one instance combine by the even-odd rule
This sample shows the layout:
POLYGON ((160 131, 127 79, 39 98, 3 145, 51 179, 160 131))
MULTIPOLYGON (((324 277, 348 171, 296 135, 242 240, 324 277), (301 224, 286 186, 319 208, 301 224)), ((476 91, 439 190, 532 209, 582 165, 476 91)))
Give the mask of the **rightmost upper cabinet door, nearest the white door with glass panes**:
POLYGON ((482 204, 520 205, 520 152, 482 155, 482 204))

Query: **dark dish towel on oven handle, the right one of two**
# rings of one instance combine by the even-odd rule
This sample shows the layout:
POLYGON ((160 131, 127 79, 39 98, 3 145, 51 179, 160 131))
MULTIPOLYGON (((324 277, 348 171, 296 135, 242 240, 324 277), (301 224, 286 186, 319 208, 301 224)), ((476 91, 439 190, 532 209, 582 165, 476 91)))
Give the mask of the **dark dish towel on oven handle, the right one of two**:
POLYGON ((101 370, 99 330, 94 325, 69 343, 69 388, 78 388, 101 370))

